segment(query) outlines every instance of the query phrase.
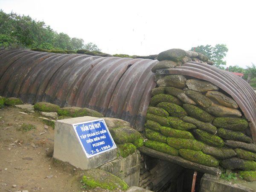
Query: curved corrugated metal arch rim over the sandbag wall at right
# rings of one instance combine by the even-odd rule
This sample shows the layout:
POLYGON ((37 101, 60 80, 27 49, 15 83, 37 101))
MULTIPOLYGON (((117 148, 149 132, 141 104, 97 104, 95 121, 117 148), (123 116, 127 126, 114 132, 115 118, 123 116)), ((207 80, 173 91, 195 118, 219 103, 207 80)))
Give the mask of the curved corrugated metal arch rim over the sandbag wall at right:
POLYGON ((177 74, 209 81, 230 94, 249 121, 253 141, 256 143, 256 94, 244 79, 215 66, 189 62, 173 69, 157 70, 157 74, 177 74))

